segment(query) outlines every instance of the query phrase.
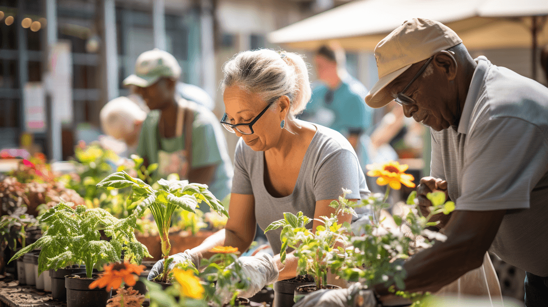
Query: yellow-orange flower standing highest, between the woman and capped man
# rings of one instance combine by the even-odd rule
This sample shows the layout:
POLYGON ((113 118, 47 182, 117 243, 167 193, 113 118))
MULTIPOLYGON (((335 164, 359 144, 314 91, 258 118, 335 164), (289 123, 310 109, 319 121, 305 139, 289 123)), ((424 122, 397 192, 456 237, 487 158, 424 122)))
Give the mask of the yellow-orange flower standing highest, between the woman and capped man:
POLYGON ((399 190, 402 184, 408 187, 415 187, 413 175, 404 173, 407 170, 407 164, 399 164, 396 161, 389 161, 384 164, 368 164, 367 175, 369 177, 379 177, 376 180, 378 185, 390 185, 392 189, 399 190))

